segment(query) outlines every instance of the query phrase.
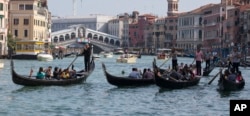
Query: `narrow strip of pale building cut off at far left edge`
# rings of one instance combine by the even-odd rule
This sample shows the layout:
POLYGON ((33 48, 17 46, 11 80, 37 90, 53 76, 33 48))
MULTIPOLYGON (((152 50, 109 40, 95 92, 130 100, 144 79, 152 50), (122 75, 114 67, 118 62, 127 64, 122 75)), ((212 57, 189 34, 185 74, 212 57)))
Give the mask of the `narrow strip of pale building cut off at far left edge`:
POLYGON ((9 0, 0 0, 0 57, 8 54, 8 4, 9 0))

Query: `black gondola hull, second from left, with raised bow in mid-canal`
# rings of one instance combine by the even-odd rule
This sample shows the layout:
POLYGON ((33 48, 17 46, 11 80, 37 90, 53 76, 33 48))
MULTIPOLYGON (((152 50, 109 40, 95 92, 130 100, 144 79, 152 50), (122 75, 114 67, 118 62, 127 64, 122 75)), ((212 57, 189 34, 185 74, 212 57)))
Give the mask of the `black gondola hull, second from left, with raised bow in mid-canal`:
POLYGON ((128 76, 114 76, 107 72, 106 66, 102 63, 102 68, 104 71, 104 75, 109 84, 117 86, 117 87, 124 87, 124 86, 145 86, 154 84, 154 79, 135 79, 129 78, 128 76))

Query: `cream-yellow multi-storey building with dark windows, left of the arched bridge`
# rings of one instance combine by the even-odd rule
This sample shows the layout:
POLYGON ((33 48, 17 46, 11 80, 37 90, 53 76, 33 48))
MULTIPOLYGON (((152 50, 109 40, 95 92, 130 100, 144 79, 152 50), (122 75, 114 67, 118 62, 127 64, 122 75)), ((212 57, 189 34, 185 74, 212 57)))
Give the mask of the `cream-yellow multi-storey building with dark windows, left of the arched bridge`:
POLYGON ((46 0, 10 0, 9 31, 16 40, 16 54, 37 55, 49 41, 50 12, 46 0))

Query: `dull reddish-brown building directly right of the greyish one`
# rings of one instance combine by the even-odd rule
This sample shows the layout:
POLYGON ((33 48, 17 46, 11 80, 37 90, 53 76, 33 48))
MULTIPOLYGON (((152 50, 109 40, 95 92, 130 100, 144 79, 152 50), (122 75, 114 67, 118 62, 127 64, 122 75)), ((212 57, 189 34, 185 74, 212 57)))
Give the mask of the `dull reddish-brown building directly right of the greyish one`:
POLYGON ((210 4, 209 7, 203 9, 202 14, 200 18, 200 26, 204 31, 202 45, 207 50, 219 49, 223 39, 224 9, 221 4, 210 4))

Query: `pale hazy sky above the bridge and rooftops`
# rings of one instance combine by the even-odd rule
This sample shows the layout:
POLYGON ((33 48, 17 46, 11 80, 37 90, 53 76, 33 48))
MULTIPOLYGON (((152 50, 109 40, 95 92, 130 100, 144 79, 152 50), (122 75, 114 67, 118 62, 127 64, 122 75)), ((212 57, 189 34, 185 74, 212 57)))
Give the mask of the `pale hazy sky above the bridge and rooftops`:
MULTIPOLYGON (((139 11, 140 14, 152 13, 167 16, 167 0, 75 0, 76 15, 104 14, 116 16, 125 12, 139 11)), ((208 3, 221 0, 179 0, 179 12, 196 9, 208 3)), ((73 16, 73 0, 48 0, 49 11, 56 16, 73 16)))

